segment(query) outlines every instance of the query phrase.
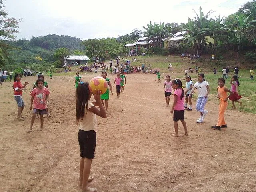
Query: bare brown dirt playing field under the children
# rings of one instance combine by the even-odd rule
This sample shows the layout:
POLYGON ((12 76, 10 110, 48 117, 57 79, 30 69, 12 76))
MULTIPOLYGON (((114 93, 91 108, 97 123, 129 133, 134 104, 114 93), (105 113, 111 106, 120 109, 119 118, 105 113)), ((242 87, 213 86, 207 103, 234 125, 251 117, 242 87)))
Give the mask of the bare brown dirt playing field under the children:
MULTIPOLYGON (((100 73, 98 73, 100 75, 100 73)), ((165 76, 166 74, 162 74, 165 76)), ((88 76, 82 74, 88 81, 88 76)), ((108 74, 113 85, 115 75, 108 74)), ((174 76, 172 76, 174 78, 174 76)), ((32 86, 35 77, 22 78, 32 86)), ((45 80, 50 88, 44 130, 29 134, 32 112, 29 90, 24 92, 24 122, 16 121, 17 104, 11 83, 0 87, 0 191, 80 191, 80 150, 77 141, 73 77, 45 80)), ((124 93, 110 96, 108 118, 98 117, 96 157, 92 161, 99 192, 252 192, 256 191, 256 115, 228 109, 228 128, 212 130, 218 104, 209 101, 202 124, 199 112, 185 112, 189 136, 174 133, 172 97, 166 107, 164 80, 154 74, 128 74, 124 93)), ((184 82, 184 81, 183 81, 184 82)), ((116 90, 114 89, 114 92, 116 90)), ((212 96, 213 97, 213 96, 212 96)))

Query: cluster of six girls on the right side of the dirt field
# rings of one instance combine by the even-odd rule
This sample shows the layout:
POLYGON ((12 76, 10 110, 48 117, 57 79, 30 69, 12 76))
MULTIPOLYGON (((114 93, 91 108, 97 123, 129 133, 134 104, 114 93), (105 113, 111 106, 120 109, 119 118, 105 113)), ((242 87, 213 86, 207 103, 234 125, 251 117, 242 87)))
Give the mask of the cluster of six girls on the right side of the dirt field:
MULTIPOLYGON (((166 81, 164 82, 164 94, 166 100, 166 106, 169 106, 170 95, 172 94, 172 89, 174 90, 174 99, 171 108, 171 113, 173 113, 173 121, 174 121, 174 130, 175 134, 172 136, 178 136, 178 120, 182 122, 184 127, 184 134, 188 135, 186 122, 184 121, 184 112, 185 109, 187 111, 192 111, 192 95, 195 89, 198 90, 198 99, 196 102, 196 110, 200 112, 200 117, 196 120, 197 123, 204 122, 204 118, 208 111, 204 109, 206 102, 208 101, 208 94, 210 92, 209 84, 204 79, 204 74, 198 74, 198 81, 193 85, 191 77, 187 75, 186 79, 186 91, 184 91, 182 82, 180 79, 175 79, 172 82, 170 81, 170 76, 166 76, 166 81), (184 104, 185 100, 185 104, 184 104), (189 102, 189 108, 187 104, 189 102)), ((216 125, 211 126, 216 130, 220 130, 221 128, 226 128, 226 122, 224 120, 224 112, 228 106, 228 99, 232 101, 233 108, 236 109, 235 103, 238 102, 240 106, 242 106, 242 102, 240 101, 241 96, 238 95, 238 86, 239 81, 238 77, 234 75, 231 80, 231 90, 225 87, 225 78, 218 78, 218 88, 217 88, 217 98, 220 100, 219 104, 219 113, 218 113, 218 122, 216 125), (227 95, 227 92, 230 94, 227 95)))

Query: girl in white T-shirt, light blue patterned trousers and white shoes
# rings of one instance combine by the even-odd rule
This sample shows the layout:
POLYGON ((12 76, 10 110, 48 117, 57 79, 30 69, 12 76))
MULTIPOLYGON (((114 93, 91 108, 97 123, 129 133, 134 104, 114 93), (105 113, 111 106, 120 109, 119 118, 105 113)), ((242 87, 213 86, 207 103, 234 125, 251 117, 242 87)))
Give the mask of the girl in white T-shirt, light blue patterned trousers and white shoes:
POLYGON ((194 84, 189 97, 192 98, 192 94, 194 90, 197 88, 198 90, 198 99, 196 102, 196 110, 200 111, 200 118, 196 121, 197 123, 204 122, 204 118, 208 111, 204 110, 204 106, 208 101, 208 94, 210 92, 209 84, 206 80, 204 80, 204 74, 198 74, 198 82, 194 84))

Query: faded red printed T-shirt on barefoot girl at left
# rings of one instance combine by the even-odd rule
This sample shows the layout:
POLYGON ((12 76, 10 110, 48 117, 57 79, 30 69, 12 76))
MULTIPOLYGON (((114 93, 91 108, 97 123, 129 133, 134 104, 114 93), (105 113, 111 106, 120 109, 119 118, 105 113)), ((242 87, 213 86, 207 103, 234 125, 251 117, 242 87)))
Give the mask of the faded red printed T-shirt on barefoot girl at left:
POLYGON ((42 89, 34 88, 33 91, 30 93, 30 95, 34 97, 33 109, 46 109, 47 106, 44 105, 44 102, 46 100, 46 96, 48 96, 49 94, 50 91, 46 87, 42 89))

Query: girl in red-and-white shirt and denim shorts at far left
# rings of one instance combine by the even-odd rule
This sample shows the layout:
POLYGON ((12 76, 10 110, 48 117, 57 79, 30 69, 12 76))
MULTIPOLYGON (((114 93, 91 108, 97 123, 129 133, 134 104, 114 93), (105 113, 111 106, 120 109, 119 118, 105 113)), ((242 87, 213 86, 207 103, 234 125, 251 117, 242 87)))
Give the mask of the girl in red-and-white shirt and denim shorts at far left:
POLYGON ((22 111, 25 107, 24 101, 22 99, 22 91, 27 90, 25 87, 28 84, 28 82, 26 81, 25 84, 22 86, 20 80, 21 80, 21 74, 15 74, 12 88, 14 89, 14 99, 16 100, 18 105, 17 119, 24 121, 24 118, 22 118, 21 116, 22 111))

